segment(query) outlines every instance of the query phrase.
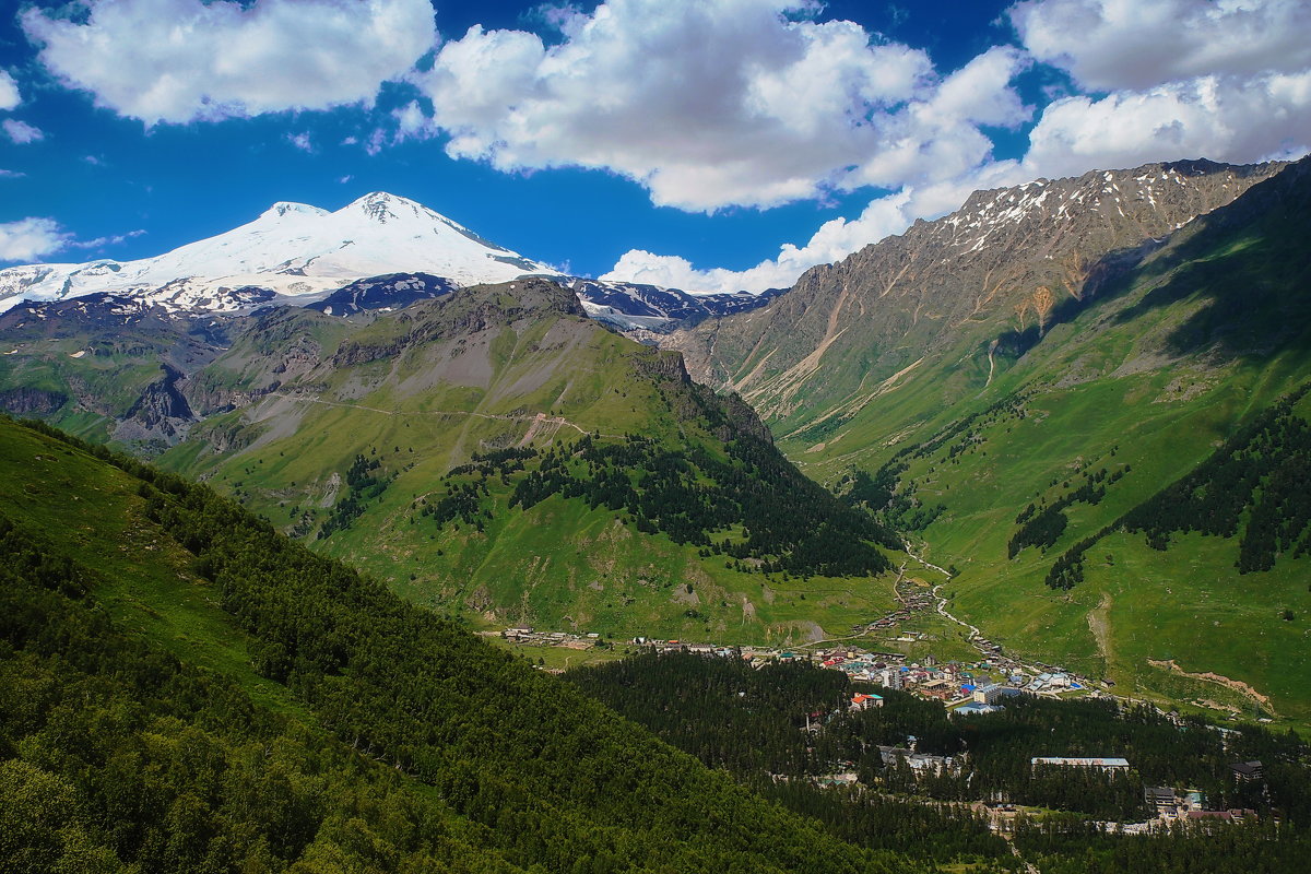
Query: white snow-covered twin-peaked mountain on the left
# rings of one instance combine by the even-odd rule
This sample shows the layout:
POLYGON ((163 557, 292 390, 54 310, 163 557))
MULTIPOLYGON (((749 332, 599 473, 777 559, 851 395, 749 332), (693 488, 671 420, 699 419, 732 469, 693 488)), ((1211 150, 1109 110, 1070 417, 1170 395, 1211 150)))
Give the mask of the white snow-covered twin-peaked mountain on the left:
POLYGON ((0 312, 20 300, 98 292, 172 312, 231 312, 274 296, 311 303, 358 279, 402 271, 460 286, 561 275, 414 200, 378 191, 336 212, 275 203, 254 221, 155 258, 0 270, 0 312))

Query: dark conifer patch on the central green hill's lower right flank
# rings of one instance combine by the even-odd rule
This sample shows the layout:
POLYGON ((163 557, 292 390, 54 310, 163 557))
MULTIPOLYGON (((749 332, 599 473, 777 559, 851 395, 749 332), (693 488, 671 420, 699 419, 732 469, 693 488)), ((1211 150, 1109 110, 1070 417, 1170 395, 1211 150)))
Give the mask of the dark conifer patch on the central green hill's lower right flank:
POLYGON ((440 497, 421 499, 416 510, 438 525, 480 528, 492 518, 489 498, 499 484, 513 487, 511 510, 556 494, 586 501, 743 571, 864 577, 890 569, 876 544, 899 544, 871 514, 808 480, 759 436, 738 431, 724 446, 720 457, 695 442, 670 448, 637 434, 621 440, 589 434, 544 452, 480 453, 444 477, 440 497))

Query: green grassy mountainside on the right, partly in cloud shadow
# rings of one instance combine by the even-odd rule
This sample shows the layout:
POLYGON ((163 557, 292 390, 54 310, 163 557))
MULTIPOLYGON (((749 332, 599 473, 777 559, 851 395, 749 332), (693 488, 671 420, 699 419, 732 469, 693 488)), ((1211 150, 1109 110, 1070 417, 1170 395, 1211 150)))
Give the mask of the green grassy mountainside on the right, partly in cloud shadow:
MULTIPOLYGON (((1164 552, 1117 523, 1311 380, 1308 204, 1303 161, 1192 223, 1045 333, 944 358, 823 446, 814 435, 781 446, 821 480, 891 499, 890 518, 916 529, 928 557, 961 570, 952 609, 1008 647, 1117 691, 1306 725, 1301 531, 1256 570, 1239 567, 1251 511, 1227 533, 1185 524, 1164 552), (962 381, 968 398, 944 404, 943 387, 962 381), (1088 539, 1082 578, 1049 586, 1088 539)), ((1302 401, 1294 415, 1306 413, 1302 401)))

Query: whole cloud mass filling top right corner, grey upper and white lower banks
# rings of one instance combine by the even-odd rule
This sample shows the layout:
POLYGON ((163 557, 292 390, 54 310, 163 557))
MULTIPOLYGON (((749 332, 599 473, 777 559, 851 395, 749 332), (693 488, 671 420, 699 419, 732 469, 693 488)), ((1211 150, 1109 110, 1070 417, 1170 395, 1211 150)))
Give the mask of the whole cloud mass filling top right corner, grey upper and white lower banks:
POLYGON ((1311 147, 1311 5, 1304 0, 1027 0, 1025 47, 1084 89, 1029 135, 1036 176, 1311 147))

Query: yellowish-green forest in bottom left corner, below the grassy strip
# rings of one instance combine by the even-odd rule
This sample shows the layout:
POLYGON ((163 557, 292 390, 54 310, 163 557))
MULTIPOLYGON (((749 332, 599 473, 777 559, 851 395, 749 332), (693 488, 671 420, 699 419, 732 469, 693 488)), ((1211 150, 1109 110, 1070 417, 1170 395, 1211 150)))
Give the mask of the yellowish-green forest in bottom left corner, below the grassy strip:
POLYGON ((96 571, 4 516, 0 554, 0 870, 520 870, 395 769, 126 633, 96 571))

